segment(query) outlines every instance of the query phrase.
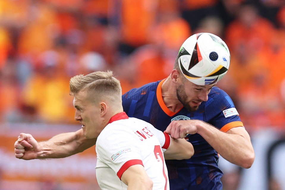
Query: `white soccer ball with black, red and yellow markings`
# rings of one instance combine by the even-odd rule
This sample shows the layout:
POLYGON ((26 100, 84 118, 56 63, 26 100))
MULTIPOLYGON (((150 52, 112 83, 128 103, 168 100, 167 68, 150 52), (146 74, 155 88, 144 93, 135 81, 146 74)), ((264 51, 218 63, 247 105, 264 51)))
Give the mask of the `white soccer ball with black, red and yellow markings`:
POLYGON ((197 85, 214 84, 226 75, 230 65, 226 43, 211 33, 190 36, 182 44, 178 64, 183 75, 197 85))

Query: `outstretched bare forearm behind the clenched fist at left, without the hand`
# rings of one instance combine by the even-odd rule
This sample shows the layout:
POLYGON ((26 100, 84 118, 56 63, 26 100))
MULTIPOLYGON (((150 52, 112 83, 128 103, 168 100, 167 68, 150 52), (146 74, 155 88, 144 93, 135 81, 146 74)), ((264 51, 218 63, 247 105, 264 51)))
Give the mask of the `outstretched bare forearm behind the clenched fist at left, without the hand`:
POLYGON ((37 158, 64 158, 95 145, 97 139, 86 139, 81 131, 58 134, 48 141, 39 142, 37 158))

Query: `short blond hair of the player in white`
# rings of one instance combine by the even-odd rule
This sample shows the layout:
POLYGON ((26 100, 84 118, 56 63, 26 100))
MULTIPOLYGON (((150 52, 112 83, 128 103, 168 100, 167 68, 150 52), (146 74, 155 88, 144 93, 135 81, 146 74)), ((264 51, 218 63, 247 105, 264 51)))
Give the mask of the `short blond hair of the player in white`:
MULTIPOLYGON (((108 97, 122 99, 120 81, 113 76, 112 71, 97 71, 88 75, 76 75, 69 82, 70 95, 75 96, 79 91, 87 91, 92 97, 108 97)), ((119 101, 119 100, 118 100, 119 101)))

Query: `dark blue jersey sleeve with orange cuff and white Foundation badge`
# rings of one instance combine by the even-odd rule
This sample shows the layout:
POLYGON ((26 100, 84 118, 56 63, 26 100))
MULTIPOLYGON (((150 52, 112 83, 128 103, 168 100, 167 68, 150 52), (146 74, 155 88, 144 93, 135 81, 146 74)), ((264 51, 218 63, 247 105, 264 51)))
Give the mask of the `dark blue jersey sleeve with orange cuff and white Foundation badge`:
POLYGON ((210 124, 224 132, 243 126, 232 99, 217 87, 211 90, 211 95, 205 104, 205 115, 210 124))

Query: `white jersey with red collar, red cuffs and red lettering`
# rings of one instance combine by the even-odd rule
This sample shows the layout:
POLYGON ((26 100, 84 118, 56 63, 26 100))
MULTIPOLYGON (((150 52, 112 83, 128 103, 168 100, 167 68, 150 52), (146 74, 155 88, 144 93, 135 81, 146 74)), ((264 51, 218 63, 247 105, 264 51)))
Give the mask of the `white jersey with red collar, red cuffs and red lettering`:
POLYGON ((96 177, 102 190, 127 189, 122 174, 132 165, 141 164, 153 181, 153 189, 169 190, 163 157, 170 136, 151 124, 125 112, 113 116, 97 138, 96 177), (163 148, 163 149, 162 149, 163 148))

